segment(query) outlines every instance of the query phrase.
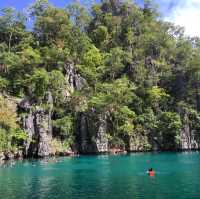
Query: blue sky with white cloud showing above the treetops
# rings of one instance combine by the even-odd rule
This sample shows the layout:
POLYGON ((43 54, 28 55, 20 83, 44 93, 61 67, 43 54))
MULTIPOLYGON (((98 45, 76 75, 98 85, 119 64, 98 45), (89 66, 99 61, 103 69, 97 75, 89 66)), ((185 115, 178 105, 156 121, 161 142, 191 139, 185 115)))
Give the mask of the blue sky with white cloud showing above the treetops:
MULTIPOLYGON (((63 7, 75 0, 49 0, 55 6, 63 7)), ((91 3, 95 0, 76 0, 91 3)), ((135 0, 141 3, 143 0, 135 0)), ((0 0, 0 8, 15 7, 23 10, 35 0, 0 0)), ((159 5, 162 17, 176 25, 185 27, 187 35, 200 36, 200 0, 154 0, 159 5)))

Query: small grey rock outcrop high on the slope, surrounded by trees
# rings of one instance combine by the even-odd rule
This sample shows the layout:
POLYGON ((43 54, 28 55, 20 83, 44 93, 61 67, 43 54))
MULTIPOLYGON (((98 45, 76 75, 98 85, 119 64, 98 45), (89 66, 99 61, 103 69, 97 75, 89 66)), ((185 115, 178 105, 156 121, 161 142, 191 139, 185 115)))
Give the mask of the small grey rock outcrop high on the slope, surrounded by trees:
POLYGON ((72 92, 75 90, 81 90, 86 85, 86 80, 80 76, 75 70, 74 64, 72 62, 68 62, 65 64, 65 79, 69 84, 72 92))

